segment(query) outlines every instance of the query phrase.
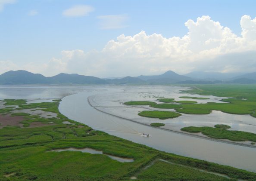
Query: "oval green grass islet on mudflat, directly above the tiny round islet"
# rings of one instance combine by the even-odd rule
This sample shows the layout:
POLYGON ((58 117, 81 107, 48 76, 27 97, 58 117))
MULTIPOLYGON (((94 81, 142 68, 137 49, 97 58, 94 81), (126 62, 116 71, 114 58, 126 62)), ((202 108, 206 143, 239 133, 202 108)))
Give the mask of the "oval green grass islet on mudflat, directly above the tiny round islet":
POLYGON ((144 111, 141 111, 138 115, 142 117, 159 118, 161 120, 181 116, 181 114, 179 113, 175 113, 172 111, 160 111, 160 110, 144 110, 144 111))

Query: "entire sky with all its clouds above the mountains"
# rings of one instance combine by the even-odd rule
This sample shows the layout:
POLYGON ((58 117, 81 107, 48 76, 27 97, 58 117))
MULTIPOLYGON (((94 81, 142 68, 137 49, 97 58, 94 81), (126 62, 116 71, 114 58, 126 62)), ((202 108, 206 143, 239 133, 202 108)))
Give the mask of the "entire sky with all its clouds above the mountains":
POLYGON ((256 71, 255 0, 0 0, 0 74, 256 71))

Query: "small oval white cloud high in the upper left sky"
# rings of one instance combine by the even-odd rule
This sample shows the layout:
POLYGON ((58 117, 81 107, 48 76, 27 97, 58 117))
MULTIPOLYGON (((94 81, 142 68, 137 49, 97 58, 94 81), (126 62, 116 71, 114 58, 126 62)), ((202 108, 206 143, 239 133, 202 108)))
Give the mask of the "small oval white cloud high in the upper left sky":
POLYGON ((87 16, 90 12, 93 12, 94 8, 88 5, 76 5, 62 12, 63 16, 67 17, 79 17, 87 16))

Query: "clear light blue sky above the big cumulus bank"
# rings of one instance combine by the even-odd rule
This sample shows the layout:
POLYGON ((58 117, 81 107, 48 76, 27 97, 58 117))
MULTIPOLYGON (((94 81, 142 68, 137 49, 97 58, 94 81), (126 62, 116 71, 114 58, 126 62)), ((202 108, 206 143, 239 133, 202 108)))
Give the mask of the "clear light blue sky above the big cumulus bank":
MULTIPOLYGON (((145 31, 167 39, 184 37, 188 32, 184 23, 189 19, 197 21, 203 15, 240 37, 241 17, 256 17, 255 0, 0 0, 1 4, 0 61, 11 61, 20 67, 61 58, 63 50, 79 49, 85 54, 93 49, 101 51, 109 40, 116 40, 121 34, 134 36, 145 31), (91 7, 91 12, 80 16, 63 14, 74 6, 91 7), (104 28, 109 17, 109 21, 119 20, 116 26, 104 28)), ((144 73, 147 72, 154 71, 148 68, 144 73)), ((94 74, 97 75, 95 71, 94 74)), ((108 75, 112 74, 100 76, 108 75)))

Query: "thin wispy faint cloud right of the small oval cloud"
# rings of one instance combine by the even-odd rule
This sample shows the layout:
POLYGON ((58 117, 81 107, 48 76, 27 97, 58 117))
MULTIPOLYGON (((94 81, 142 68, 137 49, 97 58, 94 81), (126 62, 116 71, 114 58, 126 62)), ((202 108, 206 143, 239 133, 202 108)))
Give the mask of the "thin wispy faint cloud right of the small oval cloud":
POLYGON ((125 22, 128 20, 127 15, 103 15, 97 16, 100 19, 101 29, 118 29, 125 28, 125 22))

